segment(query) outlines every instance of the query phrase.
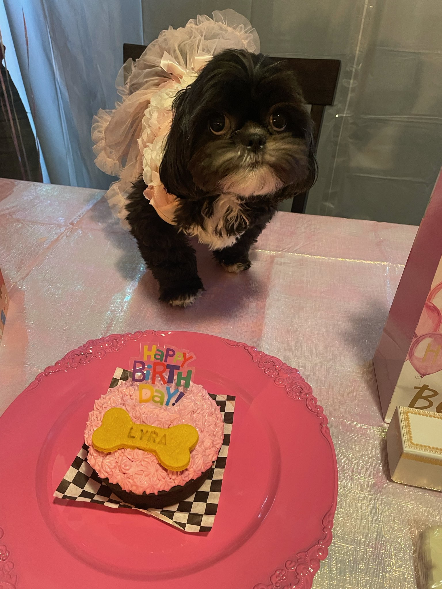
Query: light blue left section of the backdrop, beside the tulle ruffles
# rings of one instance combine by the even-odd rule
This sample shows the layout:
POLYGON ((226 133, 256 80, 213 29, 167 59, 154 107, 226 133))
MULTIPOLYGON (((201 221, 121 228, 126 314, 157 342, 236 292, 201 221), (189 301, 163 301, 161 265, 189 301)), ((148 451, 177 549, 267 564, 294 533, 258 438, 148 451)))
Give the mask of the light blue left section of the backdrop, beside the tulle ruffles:
POLYGON ((91 121, 117 100, 123 42, 143 42, 141 3, 4 0, 4 6, 50 181, 107 188, 110 178, 94 164, 91 121))

